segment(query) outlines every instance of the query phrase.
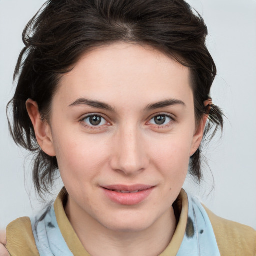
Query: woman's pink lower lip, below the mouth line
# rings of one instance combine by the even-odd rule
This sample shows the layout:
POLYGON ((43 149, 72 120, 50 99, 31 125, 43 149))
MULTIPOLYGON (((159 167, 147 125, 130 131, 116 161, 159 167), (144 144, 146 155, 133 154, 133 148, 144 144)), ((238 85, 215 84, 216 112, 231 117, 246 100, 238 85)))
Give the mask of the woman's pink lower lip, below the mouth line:
POLYGON ((105 195, 113 202, 122 205, 135 205, 145 200, 152 192, 154 187, 136 192, 136 193, 121 193, 103 188, 105 195))

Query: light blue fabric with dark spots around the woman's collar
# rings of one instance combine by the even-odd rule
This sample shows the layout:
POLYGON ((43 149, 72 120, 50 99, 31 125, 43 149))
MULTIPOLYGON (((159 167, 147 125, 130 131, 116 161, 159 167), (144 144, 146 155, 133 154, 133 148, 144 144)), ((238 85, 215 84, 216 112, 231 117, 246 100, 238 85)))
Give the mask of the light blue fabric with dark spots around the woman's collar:
MULTIPOLYGON (((35 244, 40 256, 72 256, 57 224, 54 206, 46 214, 31 218, 35 244)), ((188 222, 186 234, 177 256, 220 256, 209 217, 198 200, 188 196, 188 222)))

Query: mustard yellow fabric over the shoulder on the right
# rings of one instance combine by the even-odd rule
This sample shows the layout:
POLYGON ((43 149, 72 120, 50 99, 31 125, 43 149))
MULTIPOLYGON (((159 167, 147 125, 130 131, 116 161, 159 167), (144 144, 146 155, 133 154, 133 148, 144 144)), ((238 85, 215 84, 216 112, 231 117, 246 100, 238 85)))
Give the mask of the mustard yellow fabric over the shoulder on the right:
POLYGON ((209 216, 221 255, 256 255, 256 231, 253 228, 218 217, 203 207, 209 216))

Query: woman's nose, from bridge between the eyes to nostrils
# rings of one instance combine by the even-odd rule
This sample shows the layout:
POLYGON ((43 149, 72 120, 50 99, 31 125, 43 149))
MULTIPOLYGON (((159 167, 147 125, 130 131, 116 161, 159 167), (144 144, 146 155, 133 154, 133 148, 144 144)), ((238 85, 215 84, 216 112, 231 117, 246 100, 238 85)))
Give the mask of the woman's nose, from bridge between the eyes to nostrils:
POLYGON ((111 168, 125 175, 143 171, 149 163, 141 130, 136 125, 120 128, 115 134, 111 168))

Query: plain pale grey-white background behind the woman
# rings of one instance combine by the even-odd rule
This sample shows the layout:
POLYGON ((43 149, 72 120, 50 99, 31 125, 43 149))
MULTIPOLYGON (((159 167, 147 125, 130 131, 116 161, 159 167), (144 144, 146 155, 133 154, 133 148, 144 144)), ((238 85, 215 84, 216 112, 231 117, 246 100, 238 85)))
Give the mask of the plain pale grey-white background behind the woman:
MULTIPOLYGON (((11 140, 5 114, 22 30, 43 2, 0 0, 0 228, 43 206, 32 188, 26 152, 11 140)), ((200 187, 189 179, 185 187, 217 215, 256 228, 256 0, 188 2, 208 26, 207 45, 218 70, 211 96, 228 120, 223 137, 208 146, 213 190, 207 167, 200 187)))

